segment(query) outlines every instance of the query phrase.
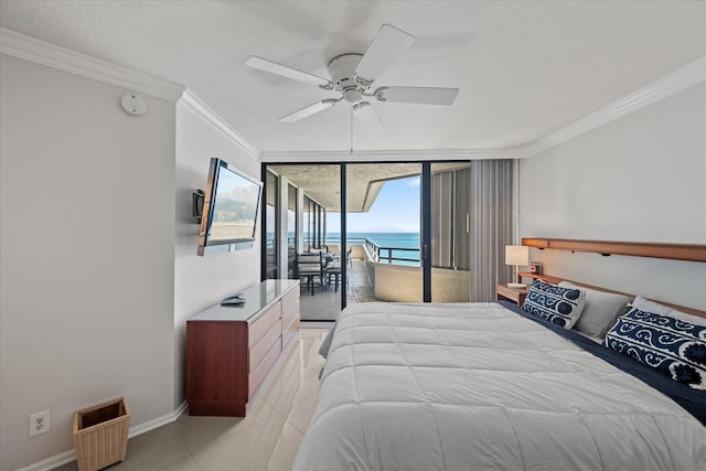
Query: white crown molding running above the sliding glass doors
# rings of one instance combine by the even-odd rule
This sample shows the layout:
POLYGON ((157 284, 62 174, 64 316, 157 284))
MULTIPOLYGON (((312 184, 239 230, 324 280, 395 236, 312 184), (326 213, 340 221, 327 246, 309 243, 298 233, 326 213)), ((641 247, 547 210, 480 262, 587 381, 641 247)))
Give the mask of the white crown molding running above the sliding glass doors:
POLYGON ((481 159, 520 159, 524 157, 524 148, 507 149, 413 149, 413 150, 345 150, 331 151, 263 151, 263 162, 409 162, 421 160, 481 160, 481 159))

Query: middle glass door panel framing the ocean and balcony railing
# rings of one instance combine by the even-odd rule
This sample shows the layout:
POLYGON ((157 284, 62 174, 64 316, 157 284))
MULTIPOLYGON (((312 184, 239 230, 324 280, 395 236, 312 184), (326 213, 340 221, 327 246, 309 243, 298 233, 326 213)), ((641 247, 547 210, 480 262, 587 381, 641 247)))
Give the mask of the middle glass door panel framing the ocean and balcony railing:
POLYGON ((349 163, 346 304, 424 301, 421 164, 349 163))

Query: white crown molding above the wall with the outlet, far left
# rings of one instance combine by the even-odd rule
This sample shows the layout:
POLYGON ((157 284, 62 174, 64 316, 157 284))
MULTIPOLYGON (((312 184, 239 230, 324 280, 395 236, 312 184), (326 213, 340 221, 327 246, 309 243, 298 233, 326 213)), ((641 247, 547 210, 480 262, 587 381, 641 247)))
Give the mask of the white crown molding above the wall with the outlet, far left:
POLYGON ((176 103, 185 87, 0 28, 0 53, 176 103))

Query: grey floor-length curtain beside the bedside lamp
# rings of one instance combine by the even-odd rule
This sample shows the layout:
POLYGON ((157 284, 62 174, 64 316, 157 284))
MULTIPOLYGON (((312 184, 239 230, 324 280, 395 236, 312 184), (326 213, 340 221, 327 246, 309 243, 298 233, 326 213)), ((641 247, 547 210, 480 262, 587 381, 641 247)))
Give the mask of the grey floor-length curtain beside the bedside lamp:
POLYGON ((471 162, 471 301, 494 301, 495 285, 512 278, 505 245, 513 243, 513 161, 471 162))

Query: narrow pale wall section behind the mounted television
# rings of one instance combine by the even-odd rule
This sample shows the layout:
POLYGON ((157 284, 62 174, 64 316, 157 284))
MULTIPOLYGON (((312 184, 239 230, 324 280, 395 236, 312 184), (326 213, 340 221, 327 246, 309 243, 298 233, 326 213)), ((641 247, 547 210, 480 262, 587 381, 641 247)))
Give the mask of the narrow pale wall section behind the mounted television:
POLYGON ((199 225, 191 218, 191 194, 205 190, 212 157, 224 159, 260 179, 254 157, 184 100, 176 105, 176 240, 174 249, 174 404, 186 398, 186 319, 213 306, 226 295, 259 282, 260 242, 252 248, 200 257, 199 225))

